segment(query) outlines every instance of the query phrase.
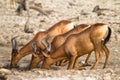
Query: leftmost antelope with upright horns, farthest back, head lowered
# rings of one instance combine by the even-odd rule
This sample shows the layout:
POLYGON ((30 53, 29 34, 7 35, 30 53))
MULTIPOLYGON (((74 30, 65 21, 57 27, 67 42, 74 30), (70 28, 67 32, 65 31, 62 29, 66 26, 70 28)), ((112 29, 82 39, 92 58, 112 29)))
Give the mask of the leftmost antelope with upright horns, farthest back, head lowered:
POLYGON ((39 51, 43 50, 45 47, 41 43, 41 39, 45 38, 46 36, 51 36, 48 42, 52 42, 53 38, 57 35, 63 34, 69 30, 74 28, 73 22, 69 20, 61 20, 60 22, 53 25, 46 31, 38 32, 35 37, 29 41, 25 46, 23 46, 19 51, 17 48, 16 38, 12 39, 12 57, 10 67, 17 67, 17 63, 22 59, 24 56, 33 52, 32 49, 32 42, 37 42, 37 49, 39 51))

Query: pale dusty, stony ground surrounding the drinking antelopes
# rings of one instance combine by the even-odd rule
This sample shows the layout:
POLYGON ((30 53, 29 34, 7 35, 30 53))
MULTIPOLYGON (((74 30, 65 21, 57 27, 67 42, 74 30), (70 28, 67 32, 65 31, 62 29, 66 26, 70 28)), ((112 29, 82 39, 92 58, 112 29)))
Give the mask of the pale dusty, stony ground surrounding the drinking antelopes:
MULTIPOLYGON (((120 1, 119 0, 28 0, 30 5, 42 4, 43 10, 52 10, 47 15, 39 14, 30 9, 29 27, 33 33, 25 33, 24 26, 27 21, 27 13, 24 11, 18 16, 16 8, 7 8, 6 0, 0 0, 0 80, 120 80, 120 1), (101 15, 92 12, 94 7, 99 5, 101 15), (18 44, 22 47, 36 32, 47 29, 54 23, 71 19, 75 24, 104 22, 110 25, 112 36, 107 46, 110 50, 109 66, 102 69, 105 56, 96 70, 69 71, 65 67, 52 66, 51 70, 41 70, 40 68, 27 70, 31 55, 22 59, 18 65, 19 69, 5 69, 4 66, 10 64, 11 42, 13 36, 19 35, 18 44)), ((80 62, 86 56, 80 58, 80 62)), ((94 53, 89 63, 94 63, 94 53)), ((41 65, 41 64, 40 64, 41 65)), ((39 66, 40 66, 39 65, 39 66)))

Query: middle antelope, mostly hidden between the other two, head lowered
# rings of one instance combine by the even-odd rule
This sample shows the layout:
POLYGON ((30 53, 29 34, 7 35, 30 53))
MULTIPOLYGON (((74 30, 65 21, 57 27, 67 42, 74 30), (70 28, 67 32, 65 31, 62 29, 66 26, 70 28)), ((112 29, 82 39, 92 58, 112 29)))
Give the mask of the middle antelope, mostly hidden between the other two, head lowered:
MULTIPOLYGON (((51 43, 51 50, 49 52, 54 52, 60 45, 62 45, 65 42, 66 38, 69 35, 77 34, 81 31, 85 30, 88 27, 89 27, 89 25, 87 25, 87 24, 80 24, 80 25, 76 26, 74 29, 68 31, 67 33, 56 36, 51 43)), ((47 37, 47 39, 48 39, 48 37, 47 37)), ((48 43, 47 40, 43 39, 42 40, 43 45, 47 46, 47 44, 45 42, 48 43)), ((34 51, 35 51, 35 53, 37 53, 36 50, 34 50, 34 51)), ((44 59, 43 54, 38 54, 36 57, 33 57, 32 61, 31 61, 30 69, 35 68, 41 61, 43 61, 43 59, 44 59)))

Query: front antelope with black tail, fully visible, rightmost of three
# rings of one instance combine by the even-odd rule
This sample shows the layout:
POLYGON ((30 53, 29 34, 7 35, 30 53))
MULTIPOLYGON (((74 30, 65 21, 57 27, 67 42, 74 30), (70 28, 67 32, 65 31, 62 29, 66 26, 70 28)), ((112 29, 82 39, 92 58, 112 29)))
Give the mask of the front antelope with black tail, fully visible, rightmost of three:
POLYGON ((92 51, 95 51, 97 59, 91 69, 97 67, 104 53, 106 54, 106 59, 103 68, 106 68, 110 53, 105 44, 109 41, 110 36, 111 29, 104 23, 93 24, 78 34, 72 34, 57 50, 49 54, 42 51, 45 56, 42 69, 50 69, 53 63, 63 59, 69 60, 67 69, 78 69, 78 58, 85 54, 90 55, 92 51))

